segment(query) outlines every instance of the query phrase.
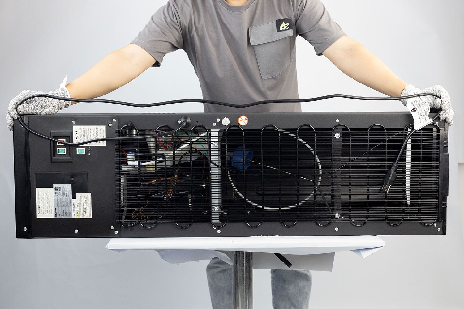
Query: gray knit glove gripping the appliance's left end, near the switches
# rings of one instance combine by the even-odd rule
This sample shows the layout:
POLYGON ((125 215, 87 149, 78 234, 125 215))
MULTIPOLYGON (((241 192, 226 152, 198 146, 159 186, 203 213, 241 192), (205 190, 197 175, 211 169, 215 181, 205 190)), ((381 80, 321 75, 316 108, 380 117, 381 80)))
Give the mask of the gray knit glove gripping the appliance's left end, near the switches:
MULTIPOLYGON (((13 131, 13 119, 18 118, 18 114, 16 113, 16 107, 18 106, 19 102, 22 101, 24 98, 30 95, 37 95, 37 94, 45 94, 43 91, 32 91, 32 90, 24 90, 18 96, 16 96, 13 100, 10 101, 10 105, 8 106, 8 113, 6 114, 6 123, 8 124, 8 128, 10 131, 13 131)), ((55 95, 61 96, 64 98, 69 98, 68 89, 65 87, 58 88, 55 91, 50 91, 47 95, 55 95)), ((69 107, 71 101, 60 101, 56 99, 46 98, 46 97, 38 97, 32 98, 27 100, 23 104, 18 107, 18 113, 21 115, 24 114, 43 114, 43 115, 51 115, 58 113, 59 110, 63 108, 69 107)))

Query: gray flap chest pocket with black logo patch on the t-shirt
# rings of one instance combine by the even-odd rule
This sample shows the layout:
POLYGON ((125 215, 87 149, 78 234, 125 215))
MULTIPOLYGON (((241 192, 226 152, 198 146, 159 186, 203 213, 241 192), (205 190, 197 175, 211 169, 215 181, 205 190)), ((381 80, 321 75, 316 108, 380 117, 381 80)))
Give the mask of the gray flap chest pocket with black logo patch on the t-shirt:
POLYGON ((279 30, 278 27, 276 28, 276 21, 251 26, 248 30, 250 44, 255 50, 259 72, 263 79, 279 75, 290 63, 293 29, 291 20, 287 23, 285 20, 279 30))

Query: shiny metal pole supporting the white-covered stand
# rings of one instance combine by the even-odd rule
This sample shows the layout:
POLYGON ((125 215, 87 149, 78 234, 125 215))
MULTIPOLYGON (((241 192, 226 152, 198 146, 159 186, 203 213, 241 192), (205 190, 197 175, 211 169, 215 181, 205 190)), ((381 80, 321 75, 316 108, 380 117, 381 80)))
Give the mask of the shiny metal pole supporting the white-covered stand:
POLYGON ((251 252, 233 255, 233 309, 253 309, 253 259, 251 252))

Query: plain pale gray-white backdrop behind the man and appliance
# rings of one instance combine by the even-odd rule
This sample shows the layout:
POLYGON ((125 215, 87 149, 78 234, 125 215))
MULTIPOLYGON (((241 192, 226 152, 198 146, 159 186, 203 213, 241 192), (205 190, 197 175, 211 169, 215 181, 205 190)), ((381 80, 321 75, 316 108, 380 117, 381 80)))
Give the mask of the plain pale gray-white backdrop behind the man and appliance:
MULTIPOLYGON (((110 51, 129 43, 166 0, 0 0, 0 98, 28 88, 58 88, 110 51)), ((258 0, 263 1, 263 0, 258 0)), ((418 88, 442 84, 457 112, 450 132, 448 235, 384 236, 386 246, 366 260, 351 252, 335 257, 334 271, 313 272, 311 308, 463 308, 464 252, 457 160, 464 159, 464 22, 459 0, 325 0, 345 32, 365 44, 406 82, 418 88)), ((339 72, 297 40, 300 96, 331 93, 378 95, 339 72)), ((199 98, 199 83, 182 50, 166 56, 134 82, 107 95, 152 102, 199 98)), ((403 110, 400 102, 332 100, 305 111, 403 110)), ((143 112, 198 112, 200 104, 143 112)), ((139 112, 104 104, 77 104, 67 113, 139 112)), ((106 239, 17 240, 14 227, 13 140, 0 130, 2 224, 0 308, 211 308, 207 262, 169 265, 155 252, 117 254, 106 239)), ((255 308, 271 308, 269 271, 255 271, 255 308)))

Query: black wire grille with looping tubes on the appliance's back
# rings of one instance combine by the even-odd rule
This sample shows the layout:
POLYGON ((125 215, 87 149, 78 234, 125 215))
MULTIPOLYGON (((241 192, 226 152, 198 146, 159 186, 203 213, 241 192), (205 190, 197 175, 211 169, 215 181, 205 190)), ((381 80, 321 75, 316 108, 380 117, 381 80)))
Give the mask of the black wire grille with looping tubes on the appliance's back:
MULTIPOLYGON (((171 130, 119 130, 119 136, 171 130)), ((116 145, 116 219, 123 226, 332 220, 432 225, 438 212, 440 128, 412 135, 395 185, 380 192, 410 127, 206 129, 116 145)))

